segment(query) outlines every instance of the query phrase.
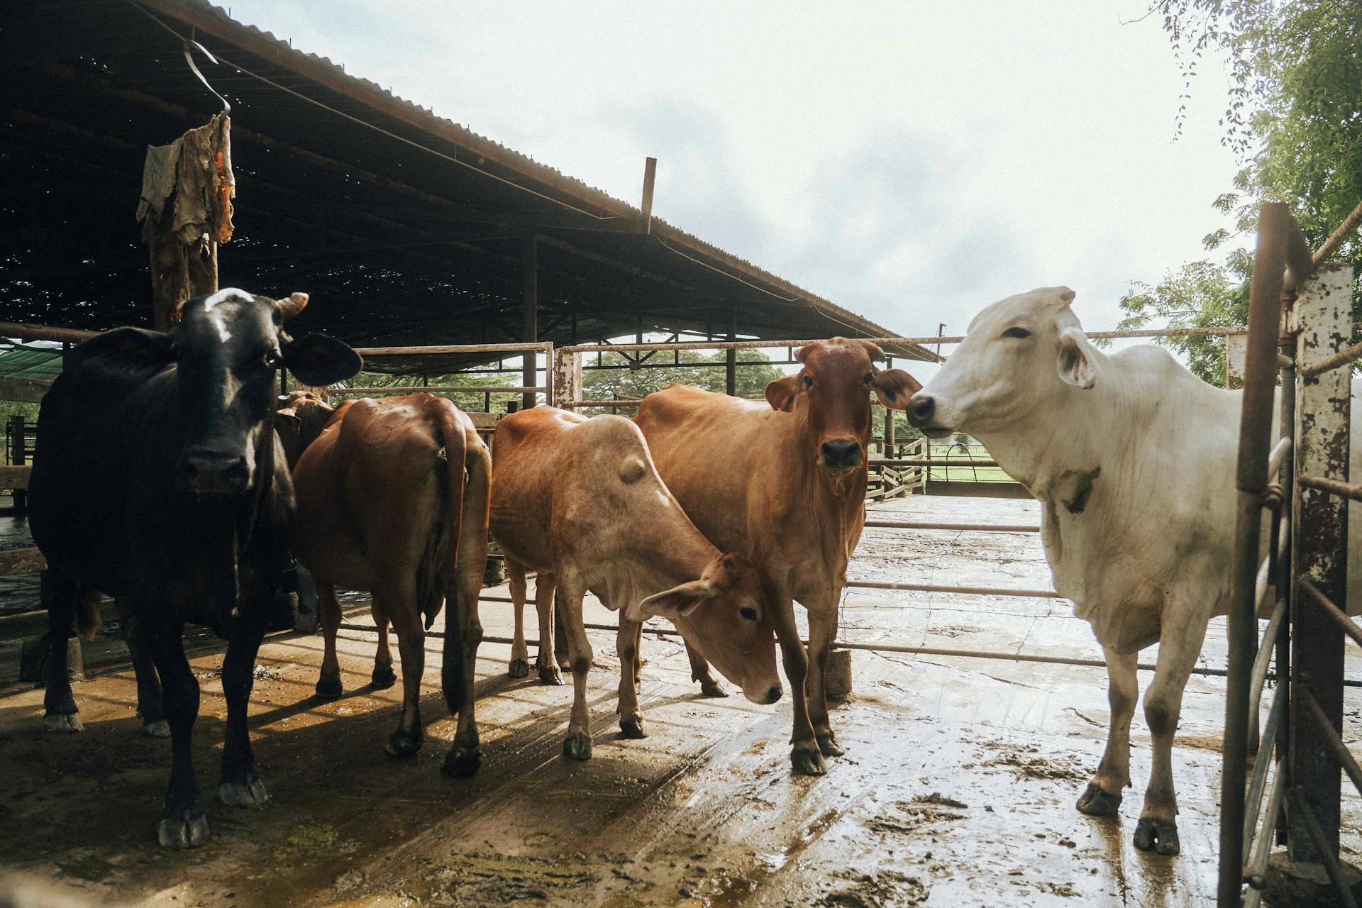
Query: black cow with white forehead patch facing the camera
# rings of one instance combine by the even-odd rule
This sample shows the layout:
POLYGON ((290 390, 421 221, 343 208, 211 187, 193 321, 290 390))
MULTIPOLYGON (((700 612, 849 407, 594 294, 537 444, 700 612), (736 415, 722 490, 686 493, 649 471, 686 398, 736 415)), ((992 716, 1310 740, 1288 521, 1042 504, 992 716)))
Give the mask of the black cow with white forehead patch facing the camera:
POLYGON ((305 384, 326 385, 361 366, 334 338, 285 334, 285 320, 306 302, 305 294, 275 301, 233 289, 197 297, 170 331, 117 328, 82 343, 42 399, 30 525, 48 560, 46 712, 76 713, 65 656, 78 603, 89 609, 91 589, 124 596, 133 638, 161 675, 170 724, 159 837, 172 848, 208 837, 189 754, 199 682, 184 655, 187 621, 229 640, 219 795, 236 807, 267 798, 247 701, 293 519, 272 423, 275 373, 283 365, 305 384))

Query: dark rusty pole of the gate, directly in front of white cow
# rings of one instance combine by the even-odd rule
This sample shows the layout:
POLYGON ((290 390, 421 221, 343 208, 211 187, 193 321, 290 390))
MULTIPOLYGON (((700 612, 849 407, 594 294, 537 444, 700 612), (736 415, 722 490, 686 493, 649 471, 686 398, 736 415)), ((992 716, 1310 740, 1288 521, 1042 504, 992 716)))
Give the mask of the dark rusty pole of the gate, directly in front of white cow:
POLYGON ((1244 780, 1248 771, 1249 675, 1257 621, 1253 614, 1258 574, 1263 491, 1267 487, 1272 436, 1278 331, 1286 267, 1286 206, 1268 203, 1258 214, 1258 248, 1249 290, 1249 339, 1244 366, 1239 456, 1235 470, 1238 506, 1234 566, 1230 573, 1229 681, 1224 698, 1224 762, 1220 773, 1220 866, 1216 904, 1238 908, 1244 893, 1244 780))

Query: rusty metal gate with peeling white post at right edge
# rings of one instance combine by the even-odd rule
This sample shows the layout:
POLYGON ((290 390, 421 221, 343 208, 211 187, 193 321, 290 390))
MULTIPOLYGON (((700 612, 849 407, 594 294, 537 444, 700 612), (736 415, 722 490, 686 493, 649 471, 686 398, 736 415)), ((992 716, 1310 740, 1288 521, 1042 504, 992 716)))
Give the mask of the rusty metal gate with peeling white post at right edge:
POLYGON ((1220 908, 1258 904, 1273 840, 1293 860, 1324 864, 1339 904, 1355 908, 1339 864, 1340 776, 1362 792, 1362 771, 1340 728, 1344 637, 1362 645, 1362 629, 1336 603, 1347 594, 1348 501, 1362 501, 1362 485, 1348 482, 1351 365, 1362 344, 1350 344, 1352 267, 1323 263, 1359 222, 1362 206, 1312 255, 1284 204, 1258 215, 1235 476, 1220 908), (1264 509, 1271 530, 1260 561, 1264 509), (1269 595, 1260 645, 1257 615, 1269 595), (1260 734, 1273 658, 1278 685, 1260 734))

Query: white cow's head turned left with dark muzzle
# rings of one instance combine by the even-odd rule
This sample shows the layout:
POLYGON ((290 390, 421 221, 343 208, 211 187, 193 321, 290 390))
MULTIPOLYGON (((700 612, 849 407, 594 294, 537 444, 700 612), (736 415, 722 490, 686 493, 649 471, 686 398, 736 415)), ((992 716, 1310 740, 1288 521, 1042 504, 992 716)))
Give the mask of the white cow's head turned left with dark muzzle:
POLYGON ((1072 301, 1068 287, 1041 287, 981 312, 908 403, 908 422, 932 438, 1009 432, 1061 406, 1065 392, 1092 388, 1103 357, 1083 335, 1072 301))

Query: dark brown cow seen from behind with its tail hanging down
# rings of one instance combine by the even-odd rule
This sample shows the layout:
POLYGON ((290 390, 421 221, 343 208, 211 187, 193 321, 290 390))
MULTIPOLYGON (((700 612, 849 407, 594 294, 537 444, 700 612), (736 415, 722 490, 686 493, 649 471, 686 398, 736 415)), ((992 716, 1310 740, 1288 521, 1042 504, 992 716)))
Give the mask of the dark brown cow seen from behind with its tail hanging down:
POLYGON ((488 557, 488 447, 469 417, 428 393, 347 400, 330 415, 326 410, 319 398, 305 393, 290 395, 281 410, 286 423, 298 421, 291 427, 302 448, 293 470, 298 498, 293 551, 312 573, 321 610, 326 655, 317 696, 335 698, 342 692, 335 588, 368 589, 380 629, 375 686, 394 679, 390 621, 402 653, 402 719, 388 738, 388 753, 415 754, 424 736, 418 700, 425 630, 449 600, 443 687, 459 727, 444 769, 470 775, 479 762, 473 678, 488 557), (311 440, 317 423, 324 427, 311 440))

